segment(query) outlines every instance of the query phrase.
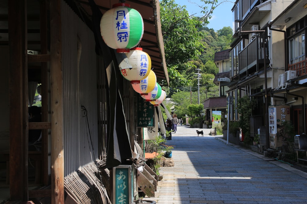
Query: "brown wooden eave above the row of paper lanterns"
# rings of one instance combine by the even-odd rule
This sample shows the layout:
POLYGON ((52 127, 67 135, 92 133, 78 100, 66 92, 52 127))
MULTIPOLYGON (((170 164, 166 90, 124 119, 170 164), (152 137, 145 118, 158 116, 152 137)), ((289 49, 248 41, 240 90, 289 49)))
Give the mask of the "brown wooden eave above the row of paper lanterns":
MULTIPOLYGON (((82 18, 87 18, 91 21, 92 10, 88 0, 64 0, 69 5, 73 5, 82 15, 82 18)), ((118 0, 101 1, 94 0, 102 14, 111 9, 114 4, 119 3, 118 0)), ((144 21, 144 34, 138 46, 143 48, 143 51, 149 54, 152 61, 152 69, 157 78, 165 80, 169 85, 169 76, 164 54, 164 43, 161 31, 160 22, 160 5, 159 1, 150 0, 127 0, 126 4, 130 4, 130 8, 136 9, 142 16, 144 21)), ((77 12, 76 12, 77 13, 77 12)))

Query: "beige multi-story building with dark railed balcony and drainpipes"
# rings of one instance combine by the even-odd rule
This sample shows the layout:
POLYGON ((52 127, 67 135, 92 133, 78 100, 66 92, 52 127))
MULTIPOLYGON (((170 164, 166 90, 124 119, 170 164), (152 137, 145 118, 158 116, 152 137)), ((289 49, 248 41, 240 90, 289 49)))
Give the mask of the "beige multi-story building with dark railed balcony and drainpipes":
POLYGON ((235 41, 230 51, 228 93, 234 98, 234 106, 230 119, 239 119, 236 109, 239 98, 254 97, 257 104, 251 116, 251 137, 260 126, 265 126, 263 145, 266 147, 269 144, 268 106, 276 102, 276 98, 270 97, 270 90, 278 86, 278 77, 285 71, 284 33, 271 31, 269 23, 291 2, 293 0, 237 0, 232 8, 235 41))

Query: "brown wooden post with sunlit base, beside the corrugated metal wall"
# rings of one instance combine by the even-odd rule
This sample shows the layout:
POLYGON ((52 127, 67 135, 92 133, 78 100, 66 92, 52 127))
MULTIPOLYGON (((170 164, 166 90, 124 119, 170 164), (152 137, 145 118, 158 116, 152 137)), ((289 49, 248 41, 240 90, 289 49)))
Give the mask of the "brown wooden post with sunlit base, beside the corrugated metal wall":
POLYGON ((64 203, 61 1, 50 1, 51 203, 64 203))

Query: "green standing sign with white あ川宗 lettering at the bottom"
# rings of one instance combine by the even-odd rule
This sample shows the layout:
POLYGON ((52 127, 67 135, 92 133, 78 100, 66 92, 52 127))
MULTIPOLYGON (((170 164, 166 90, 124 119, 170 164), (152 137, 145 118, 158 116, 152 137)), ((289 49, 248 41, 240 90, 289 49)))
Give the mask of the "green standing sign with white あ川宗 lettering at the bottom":
POLYGON ((133 203, 133 183, 130 165, 119 165, 113 167, 113 203, 133 203))

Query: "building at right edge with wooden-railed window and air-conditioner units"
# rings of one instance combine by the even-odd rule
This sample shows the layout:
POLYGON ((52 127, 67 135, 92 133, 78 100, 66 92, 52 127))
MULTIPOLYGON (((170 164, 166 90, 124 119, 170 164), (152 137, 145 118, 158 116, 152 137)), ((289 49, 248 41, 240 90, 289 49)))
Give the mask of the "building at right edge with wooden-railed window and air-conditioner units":
POLYGON ((290 106, 290 120, 294 126, 294 133, 306 134, 307 2, 294 0, 269 23, 269 28, 271 32, 281 33, 283 36, 278 51, 281 52, 285 67, 285 72, 279 75, 278 86, 271 92, 271 96, 274 99, 282 98, 282 102, 290 106))

